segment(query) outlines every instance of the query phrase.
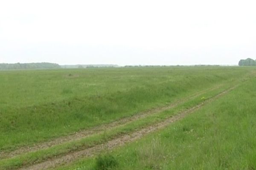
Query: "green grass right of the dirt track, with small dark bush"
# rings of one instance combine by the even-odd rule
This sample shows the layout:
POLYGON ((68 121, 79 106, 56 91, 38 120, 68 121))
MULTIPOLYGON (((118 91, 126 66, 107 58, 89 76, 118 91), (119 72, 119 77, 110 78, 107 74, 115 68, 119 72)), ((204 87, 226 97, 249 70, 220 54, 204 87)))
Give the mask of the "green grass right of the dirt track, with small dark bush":
POLYGON ((105 162, 109 170, 255 170, 255 100, 254 76, 163 130, 55 169, 100 170, 105 162))

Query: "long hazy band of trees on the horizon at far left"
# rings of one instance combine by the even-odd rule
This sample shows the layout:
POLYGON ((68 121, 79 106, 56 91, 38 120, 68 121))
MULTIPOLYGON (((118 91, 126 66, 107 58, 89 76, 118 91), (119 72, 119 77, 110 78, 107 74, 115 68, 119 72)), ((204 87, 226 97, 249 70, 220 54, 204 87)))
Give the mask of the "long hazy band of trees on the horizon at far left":
POLYGON ((7 64, 0 63, 0 70, 13 70, 13 69, 47 69, 47 68, 61 68, 60 65, 49 62, 36 62, 36 63, 15 63, 7 64))

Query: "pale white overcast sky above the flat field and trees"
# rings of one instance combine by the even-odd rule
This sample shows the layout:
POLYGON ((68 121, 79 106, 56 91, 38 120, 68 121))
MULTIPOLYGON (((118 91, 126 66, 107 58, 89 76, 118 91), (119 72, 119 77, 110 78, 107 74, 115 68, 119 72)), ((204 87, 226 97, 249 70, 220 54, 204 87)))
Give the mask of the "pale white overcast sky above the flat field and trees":
POLYGON ((0 0, 0 63, 237 65, 255 0, 0 0))

